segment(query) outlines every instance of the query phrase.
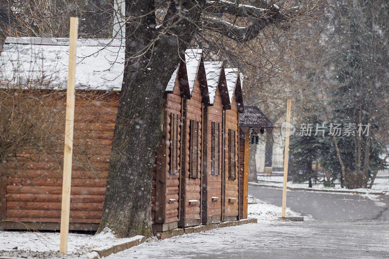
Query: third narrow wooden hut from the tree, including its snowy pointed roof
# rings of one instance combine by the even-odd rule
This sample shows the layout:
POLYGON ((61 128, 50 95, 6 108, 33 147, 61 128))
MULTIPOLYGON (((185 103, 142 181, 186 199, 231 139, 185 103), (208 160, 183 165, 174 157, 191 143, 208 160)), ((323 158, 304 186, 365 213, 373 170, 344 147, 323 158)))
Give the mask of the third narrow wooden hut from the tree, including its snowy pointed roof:
POLYGON ((210 105, 203 110, 204 143, 202 223, 223 220, 223 114, 230 108, 230 99, 223 62, 204 62, 210 105))

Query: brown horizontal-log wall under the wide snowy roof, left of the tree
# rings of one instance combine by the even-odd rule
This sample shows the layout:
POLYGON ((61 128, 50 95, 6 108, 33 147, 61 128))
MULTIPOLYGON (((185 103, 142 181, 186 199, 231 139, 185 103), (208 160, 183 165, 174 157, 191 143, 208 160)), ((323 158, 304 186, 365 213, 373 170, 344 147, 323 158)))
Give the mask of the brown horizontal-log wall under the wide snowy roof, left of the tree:
MULTIPOLYGON (((26 147, 5 169, 8 221, 60 222, 66 98, 58 96, 45 102, 58 120, 45 137, 52 150, 26 147)), ((100 222, 118 101, 117 92, 76 94, 71 223, 100 222)))

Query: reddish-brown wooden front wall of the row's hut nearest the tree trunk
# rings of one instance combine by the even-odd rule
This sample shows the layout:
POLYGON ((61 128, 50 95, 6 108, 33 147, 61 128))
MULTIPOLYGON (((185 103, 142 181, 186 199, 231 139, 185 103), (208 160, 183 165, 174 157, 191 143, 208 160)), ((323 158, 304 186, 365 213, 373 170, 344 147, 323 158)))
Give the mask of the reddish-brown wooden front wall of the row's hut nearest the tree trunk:
MULTIPOLYGON (((179 173, 169 173, 169 162, 171 159, 169 148, 170 140, 172 139, 170 115, 176 114, 178 120, 181 118, 181 102, 181 92, 177 77, 173 93, 168 93, 165 97, 164 130, 159 142, 156 165, 153 170, 152 219, 156 224, 178 221, 179 173)), ((180 127, 178 127, 177 135, 178 141, 180 141, 180 127)), ((179 151, 177 156, 177 159, 179 159, 179 151)))

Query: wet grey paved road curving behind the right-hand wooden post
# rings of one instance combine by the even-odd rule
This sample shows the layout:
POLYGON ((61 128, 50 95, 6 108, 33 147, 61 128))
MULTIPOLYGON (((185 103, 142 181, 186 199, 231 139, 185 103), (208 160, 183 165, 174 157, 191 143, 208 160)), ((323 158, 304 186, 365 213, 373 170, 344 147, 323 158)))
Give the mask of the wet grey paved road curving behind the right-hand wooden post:
MULTIPOLYGON (((282 189, 249 185, 248 193, 267 203, 282 205, 282 189)), ((317 220, 389 220, 389 196, 370 196, 377 200, 359 194, 288 190, 286 206, 317 220)))

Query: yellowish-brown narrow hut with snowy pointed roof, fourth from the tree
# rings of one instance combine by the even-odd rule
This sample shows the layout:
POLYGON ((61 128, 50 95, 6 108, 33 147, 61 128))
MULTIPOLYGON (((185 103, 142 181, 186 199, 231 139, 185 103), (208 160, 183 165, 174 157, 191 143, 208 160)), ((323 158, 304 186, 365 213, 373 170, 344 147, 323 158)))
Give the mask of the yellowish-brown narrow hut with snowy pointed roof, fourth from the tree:
POLYGON ((239 219, 239 114, 244 112, 242 88, 238 69, 225 69, 230 98, 230 109, 224 114, 225 138, 225 179, 224 179, 224 220, 239 219))

